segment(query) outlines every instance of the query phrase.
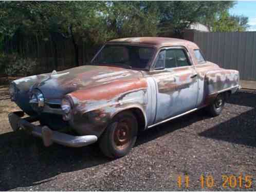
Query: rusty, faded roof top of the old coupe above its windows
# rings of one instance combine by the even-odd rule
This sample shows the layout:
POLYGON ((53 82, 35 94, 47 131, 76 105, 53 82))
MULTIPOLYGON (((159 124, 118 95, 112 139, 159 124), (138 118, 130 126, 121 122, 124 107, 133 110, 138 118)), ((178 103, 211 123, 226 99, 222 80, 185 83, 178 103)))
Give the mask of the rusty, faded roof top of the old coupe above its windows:
POLYGON ((108 41, 108 43, 132 44, 132 45, 148 45, 157 48, 168 46, 184 46, 191 49, 199 49, 194 42, 168 37, 129 37, 119 38, 108 41))

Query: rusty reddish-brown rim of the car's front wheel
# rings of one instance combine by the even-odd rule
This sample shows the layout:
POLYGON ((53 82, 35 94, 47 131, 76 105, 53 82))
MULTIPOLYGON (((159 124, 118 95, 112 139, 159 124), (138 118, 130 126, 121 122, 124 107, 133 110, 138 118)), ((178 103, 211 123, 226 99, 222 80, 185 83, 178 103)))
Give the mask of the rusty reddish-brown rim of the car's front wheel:
POLYGON ((114 142, 118 150, 124 150, 131 143, 132 129, 128 119, 124 119, 117 123, 114 132, 114 142))

